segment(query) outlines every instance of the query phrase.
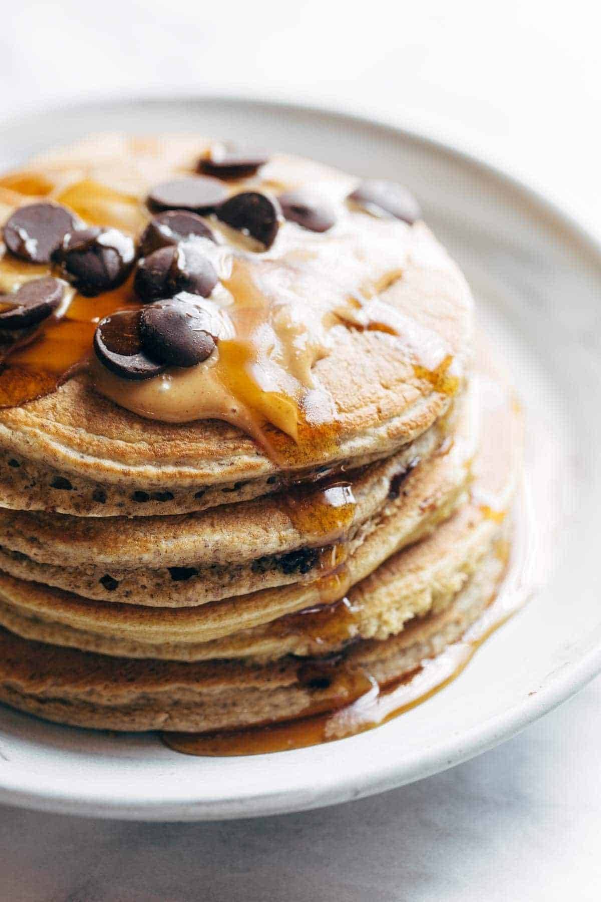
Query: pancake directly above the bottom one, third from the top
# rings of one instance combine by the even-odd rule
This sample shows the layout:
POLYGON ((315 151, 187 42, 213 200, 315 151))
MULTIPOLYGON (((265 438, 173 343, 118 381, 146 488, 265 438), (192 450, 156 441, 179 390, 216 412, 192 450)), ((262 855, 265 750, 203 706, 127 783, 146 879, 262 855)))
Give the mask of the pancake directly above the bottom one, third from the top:
POLYGON ((482 442, 469 501, 448 522, 442 522, 448 511, 438 508, 429 521, 430 538, 406 550, 399 552, 407 543, 403 516, 393 511, 332 575, 180 609, 93 602, 3 575, 0 623, 59 645, 183 660, 327 653, 357 635, 383 639, 402 630, 405 621, 435 608, 438 597, 458 591, 505 520, 519 473, 521 418, 498 378, 482 373, 478 380, 482 442), (311 621, 281 620, 345 596, 350 608, 340 611, 344 629, 341 636, 330 630, 331 644, 319 634, 319 615, 316 629, 311 621))

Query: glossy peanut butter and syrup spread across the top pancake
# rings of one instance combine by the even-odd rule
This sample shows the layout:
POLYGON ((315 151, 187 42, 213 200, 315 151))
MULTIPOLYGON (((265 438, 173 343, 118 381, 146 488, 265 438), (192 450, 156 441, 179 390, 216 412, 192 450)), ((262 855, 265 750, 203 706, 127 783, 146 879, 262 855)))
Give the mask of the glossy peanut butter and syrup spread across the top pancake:
MULTIPOLYGON (((233 183, 230 189, 235 193, 247 185, 233 183)), ((253 179, 251 187, 264 190, 269 185, 266 173, 265 183, 253 179)), ((281 179, 278 185, 287 187, 281 179)), ((39 327, 31 345, 12 352, 5 347, 10 364, 0 404, 14 406, 52 391, 77 364, 89 360, 96 390, 142 417, 165 422, 223 419, 258 440, 278 462, 302 465, 316 450, 327 453, 337 446, 336 406, 315 379, 314 364, 330 354, 342 324, 396 336, 418 378, 430 381, 435 391, 453 393, 458 378, 449 373, 446 342, 386 301, 387 290, 403 278, 411 228, 349 209, 344 198, 350 187, 344 178, 321 185, 337 209, 330 232, 316 235, 284 222, 264 253, 250 250, 243 236, 232 235, 209 217, 218 243, 198 241, 220 282, 210 299, 196 301, 210 312, 220 340, 205 363, 170 368, 145 382, 109 373, 89 354, 94 328, 98 319, 134 304, 132 292, 128 286, 93 299, 71 293, 62 316, 39 327)), ((114 226, 132 235, 150 217, 140 197, 89 178, 65 183, 59 171, 11 173, 0 179, 0 199, 13 206, 55 200, 85 224, 114 226)), ((5 253, 0 288, 12 290, 49 271, 5 253)))

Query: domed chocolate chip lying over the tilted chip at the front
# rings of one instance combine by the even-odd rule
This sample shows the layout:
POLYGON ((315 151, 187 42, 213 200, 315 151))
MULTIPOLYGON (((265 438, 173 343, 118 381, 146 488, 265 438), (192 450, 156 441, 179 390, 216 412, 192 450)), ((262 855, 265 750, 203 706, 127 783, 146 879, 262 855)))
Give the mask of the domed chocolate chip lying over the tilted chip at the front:
POLYGON ((210 357, 215 340, 205 310, 183 300, 166 300, 141 311, 144 350, 166 366, 194 366, 210 357))

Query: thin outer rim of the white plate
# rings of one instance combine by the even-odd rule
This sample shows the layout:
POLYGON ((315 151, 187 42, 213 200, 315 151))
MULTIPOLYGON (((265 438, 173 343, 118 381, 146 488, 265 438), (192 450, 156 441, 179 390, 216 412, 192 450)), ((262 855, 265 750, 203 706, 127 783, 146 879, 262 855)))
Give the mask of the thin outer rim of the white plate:
MULTIPOLYGON (((77 114, 77 109, 94 109, 102 106, 159 106, 181 103, 195 104, 227 104, 231 106, 251 106, 255 108, 278 111, 281 115, 303 113, 326 117, 332 122, 349 127, 377 129, 379 133, 388 134, 395 140, 413 143, 414 146, 422 146, 431 152, 436 152, 447 159, 460 161, 477 170, 487 179, 494 181, 503 189, 509 189, 524 199, 533 208, 539 217, 552 219, 555 226, 561 230, 561 240, 569 236, 576 242, 580 253, 586 250, 601 267, 601 237, 596 235, 590 227, 581 223, 577 216, 566 210, 560 202, 546 197, 540 189, 530 186, 523 178, 515 175, 508 167, 497 162, 489 162, 477 153, 470 152, 455 139, 445 141, 441 137, 434 136, 423 129, 406 127, 396 124, 392 120, 381 116, 372 117, 349 109, 336 109, 315 103, 304 103, 297 100, 282 99, 279 97, 245 96, 238 93, 214 93, 187 94, 185 92, 131 96, 121 99, 115 96, 94 97, 88 102, 74 100, 70 103, 62 103, 52 109, 28 110, 24 115, 10 115, 3 117, 2 124, 5 127, 26 125, 33 123, 37 115, 77 114)), ((579 689, 586 686, 590 680, 601 673, 601 643, 589 649, 575 661, 564 663, 546 678, 544 685, 538 691, 523 698, 513 705, 487 720, 457 735, 451 735, 445 741, 444 747, 431 747, 424 749, 421 754, 415 753, 412 759, 405 759, 404 775, 399 777, 395 772, 394 762, 380 767, 377 771, 364 772, 361 777, 360 788, 355 779, 343 778, 337 782, 335 788, 324 792, 323 796, 305 799, 298 804, 291 804, 290 799, 282 791, 269 792, 261 789, 260 792, 243 796, 222 796, 219 802, 202 799, 189 799, 183 802, 181 797, 161 796, 161 798, 148 798, 142 795, 130 795, 126 802, 119 798, 99 798, 94 792, 84 792, 81 786, 77 792, 63 791, 36 784, 28 769, 15 765, 12 769, 0 769, 0 803, 32 808, 39 811, 57 812, 61 814, 100 816, 108 818, 123 818, 128 820, 229 820, 234 818, 247 818, 253 816, 265 816, 281 814, 283 812, 296 812, 307 809, 333 805, 342 801, 369 796, 378 792, 399 787, 412 782, 417 778, 426 778, 444 769, 454 767, 462 761, 468 760, 484 751, 493 748, 497 743, 513 737, 517 732, 524 730, 529 724, 538 720, 543 714, 551 712, 555 707, 567 701, 575 695, 579 689), (29 784, 26 778, 29 778, 29 784), (220 806, 220 810, 217 807, 220 806)), ((337 743, 332 743, 332 745, 337 743)))

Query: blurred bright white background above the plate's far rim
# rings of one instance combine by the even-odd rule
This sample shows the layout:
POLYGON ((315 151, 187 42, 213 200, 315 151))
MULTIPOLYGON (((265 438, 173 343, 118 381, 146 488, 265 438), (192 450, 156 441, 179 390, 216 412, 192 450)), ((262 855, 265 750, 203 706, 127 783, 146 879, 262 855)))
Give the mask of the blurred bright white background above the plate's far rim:
POLYGON ((23 0, 3 16, 0 110, 222 91, 343 106, 484 153, 590 222, 601 220, 596 10, 593 0, 23 0))

